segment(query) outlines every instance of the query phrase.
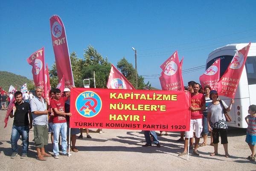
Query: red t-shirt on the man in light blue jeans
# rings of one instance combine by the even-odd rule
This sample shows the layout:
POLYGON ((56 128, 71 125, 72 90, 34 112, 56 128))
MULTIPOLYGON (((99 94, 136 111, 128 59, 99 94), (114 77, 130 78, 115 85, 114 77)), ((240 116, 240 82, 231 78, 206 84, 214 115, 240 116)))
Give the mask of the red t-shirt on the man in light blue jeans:
MULTIPOLYGON (((65 113, 65 101, 67 101, 68 97, 61 97, 58 101, 55 99, 52 99, 51 101, 51 107, 52 109, 57 108, 58 111, 65 113)), ((54 110, 53 110, 54 111, 54 110)), ((66 116, 65 115, 58 115, 57 113, 54 112, 54 117, 53 117, 53 124, 56 123, 64 123, 66 121, 66 116)))

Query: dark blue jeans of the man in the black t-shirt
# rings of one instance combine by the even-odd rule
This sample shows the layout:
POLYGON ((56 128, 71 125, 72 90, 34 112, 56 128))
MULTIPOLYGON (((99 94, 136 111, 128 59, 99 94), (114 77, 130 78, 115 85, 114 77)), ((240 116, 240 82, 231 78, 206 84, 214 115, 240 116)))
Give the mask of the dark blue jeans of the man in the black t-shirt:
POLYGON ((22 139, 22 154, 27 154, 29 151, 29 126, 17 127, 15 125, 12 126, 12 136, 11 136, 11 144, 12 144, 12 152, 18 152, 17 142, 22 139))

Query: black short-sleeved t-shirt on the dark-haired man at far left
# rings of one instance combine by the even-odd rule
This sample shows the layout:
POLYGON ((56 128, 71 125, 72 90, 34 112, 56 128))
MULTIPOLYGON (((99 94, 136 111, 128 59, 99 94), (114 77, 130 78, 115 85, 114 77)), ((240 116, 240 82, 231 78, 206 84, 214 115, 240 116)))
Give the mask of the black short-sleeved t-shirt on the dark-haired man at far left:
MULTIPOLYGON (((30 106, 29 103, 26 101, 22 101, 20 105, 15 103, 15 113, 14 113, 14 120, 13 125, 17 127, 23 127, 29 125, 29 111, 30 106)), ((31 121, 32 122, 32 121, 31 121)))

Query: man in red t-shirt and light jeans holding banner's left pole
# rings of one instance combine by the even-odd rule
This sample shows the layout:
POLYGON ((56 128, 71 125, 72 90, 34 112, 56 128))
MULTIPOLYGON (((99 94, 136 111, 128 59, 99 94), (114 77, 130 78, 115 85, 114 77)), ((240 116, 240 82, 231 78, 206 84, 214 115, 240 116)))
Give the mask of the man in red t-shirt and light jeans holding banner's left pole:
MULTIPOLYGON (((58 149, 58 139, 59 134, 61 133, 61 155, 68 156, 67 154, 67 121, 66 115, 70 116, 72 113, 65 113, 65 101, 67 101, 68 97, 61 97, 61 90, 55 89, 54 90, 54 99, 51 101, 51 107, 54 112, 53 117, 53 153, 54 158, 59 158, 59 149, 58 149)), ((71 156, 71 154, 70 154, 71 156)))

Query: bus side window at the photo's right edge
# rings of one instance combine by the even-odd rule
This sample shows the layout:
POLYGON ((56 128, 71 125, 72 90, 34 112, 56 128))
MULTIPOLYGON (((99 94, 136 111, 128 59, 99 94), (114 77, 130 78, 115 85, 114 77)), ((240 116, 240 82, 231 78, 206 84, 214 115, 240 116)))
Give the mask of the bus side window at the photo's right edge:
POLYGON ((256 56, 248 56, 245 62, 248 85, 256 84, 256 56))

